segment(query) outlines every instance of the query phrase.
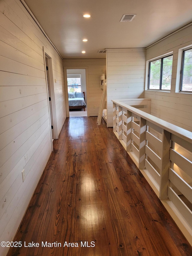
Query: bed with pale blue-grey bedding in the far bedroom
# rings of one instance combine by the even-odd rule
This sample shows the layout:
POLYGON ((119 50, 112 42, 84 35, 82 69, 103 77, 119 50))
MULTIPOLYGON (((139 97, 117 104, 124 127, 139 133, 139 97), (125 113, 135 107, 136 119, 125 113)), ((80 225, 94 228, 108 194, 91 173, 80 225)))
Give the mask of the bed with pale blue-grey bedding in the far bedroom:
POLYGON ((69 109, 81 109, 85 111, 85 92, 68 93, 69 109))

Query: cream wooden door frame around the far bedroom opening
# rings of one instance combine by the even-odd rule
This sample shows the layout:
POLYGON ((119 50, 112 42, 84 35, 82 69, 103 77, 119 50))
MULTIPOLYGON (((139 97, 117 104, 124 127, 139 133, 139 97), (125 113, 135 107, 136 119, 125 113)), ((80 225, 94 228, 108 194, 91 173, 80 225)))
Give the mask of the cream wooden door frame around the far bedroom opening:
POLYGON ((67 90, 67 69, 85 69, 86 78, 86 100, 87 100, 87 116, 89 115, 89 85, 88 85, 88 66, 64 66, 64 83, 65 83, 65 97, 66 97, 66 110, 67 117, 69 117, 69 100, 68 100, 68 90, 67 90))

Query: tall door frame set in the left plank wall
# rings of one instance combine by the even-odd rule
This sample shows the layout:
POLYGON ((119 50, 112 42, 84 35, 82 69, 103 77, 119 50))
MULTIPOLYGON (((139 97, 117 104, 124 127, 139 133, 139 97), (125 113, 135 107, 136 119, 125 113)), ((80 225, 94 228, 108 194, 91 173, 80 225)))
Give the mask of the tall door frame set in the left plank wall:
POLYGON ((53 72, 52 72, 52 59, 51 57, 45 53, 43 47, 43 57, 44 57, 44 67, 45 67, 45 81, 46 81, 46 89, 47 89, 47 104, 48 104, 48 112, 49 112, 49 126, 50 126, 50 137, 51 137, 51 147, 53 151, 52 139, 58 139, 57 132, 57 117, 56 117, 56 107, 55 107, 55 90, 54 90, 54 82, 53 82, 53 72), (46 59, 48 66, 48 76, 46 71, 46 59), (49 86, 48 80, 49 79, 49 86), (49 93, 51 96, 51 110, 49 107, 49 93), (52 136, 52 128, 51 128, 51 113, 52 112, 52 125, 53 125, 53 136, 52 136))

